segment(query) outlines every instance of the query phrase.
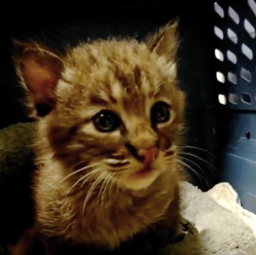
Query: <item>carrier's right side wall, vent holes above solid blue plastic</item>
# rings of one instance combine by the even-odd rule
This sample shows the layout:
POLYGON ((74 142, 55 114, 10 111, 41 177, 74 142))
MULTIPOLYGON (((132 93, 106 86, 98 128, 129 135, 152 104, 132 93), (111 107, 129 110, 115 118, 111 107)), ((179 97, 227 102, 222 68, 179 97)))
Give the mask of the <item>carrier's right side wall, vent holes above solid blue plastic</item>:
POLYGON ((256 2, 217 1, 213 9, 220 181, 256 213, 256 2))

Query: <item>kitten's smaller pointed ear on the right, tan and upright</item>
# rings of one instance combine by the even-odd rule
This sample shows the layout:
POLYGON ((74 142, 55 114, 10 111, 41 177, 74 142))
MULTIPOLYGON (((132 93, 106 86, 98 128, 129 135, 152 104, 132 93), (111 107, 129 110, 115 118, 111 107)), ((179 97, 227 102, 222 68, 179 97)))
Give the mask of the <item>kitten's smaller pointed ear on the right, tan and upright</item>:
POLYGON ((167 62, 175 62, 175 54, 178 48, 178 20, 169 22, 161 27, 157 33, 148 36, 145 43, 150 51, 159 56, 165 56, 167 62))

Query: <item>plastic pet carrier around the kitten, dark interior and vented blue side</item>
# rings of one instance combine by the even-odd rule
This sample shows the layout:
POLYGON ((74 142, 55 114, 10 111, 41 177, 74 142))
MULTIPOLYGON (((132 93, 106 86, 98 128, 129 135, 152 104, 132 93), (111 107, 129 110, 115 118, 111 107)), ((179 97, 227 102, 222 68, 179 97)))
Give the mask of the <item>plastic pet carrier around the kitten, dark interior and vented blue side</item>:
MULTIPOLYGON (((87 38, 129 36, 141 40, 178 16, 178 80, 187 93, 187 131, 180 157, 193 183, 202 190, 221 181, 230 182, 242 206, 256 213, 255 1, 90 3, 88 8, 74 5, 62 10, 46 5, 40 6, 40 12, 23 3, 5 7, 18 22, 2 17, 0 128, 32 121, 22 103, 11 38, 39 39, 58 49, 87 38)), ((1 210, 5 219, 1 227, 7 233, 12 222, 17 226, 16 237, 33 214, 24 204, 25 200, 29 204, 30 178, 28 172, 24 174, 24 182, 19 175, 0 176, 0 193, 8 194, 1 197, 3 208, 8 208, 1 210), (17 208, 25 210, 17 215, 17 208)), ((5 234, 3 242, 9 243, 13 235, 5 234)))

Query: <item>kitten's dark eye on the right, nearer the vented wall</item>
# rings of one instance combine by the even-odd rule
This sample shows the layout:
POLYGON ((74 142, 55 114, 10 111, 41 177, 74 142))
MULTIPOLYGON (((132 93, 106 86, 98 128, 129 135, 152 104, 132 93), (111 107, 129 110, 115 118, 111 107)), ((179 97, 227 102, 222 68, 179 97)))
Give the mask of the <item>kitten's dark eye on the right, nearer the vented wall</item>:
POLYGON ((151 108, 151 120, 153 123, 166 122, 170 119, 170 106, 165 102, 157 102, 151 108))

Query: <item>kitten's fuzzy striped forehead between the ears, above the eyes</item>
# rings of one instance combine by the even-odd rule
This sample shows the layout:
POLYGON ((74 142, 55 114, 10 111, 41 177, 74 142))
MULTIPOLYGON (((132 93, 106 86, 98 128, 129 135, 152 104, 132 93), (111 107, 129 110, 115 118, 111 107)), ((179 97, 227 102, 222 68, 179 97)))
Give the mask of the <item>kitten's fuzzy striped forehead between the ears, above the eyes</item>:
POLYGON ((175 68, 137 41, 82 44, 67 54, 66 63, 69 83, 101 105, 137 104, 175 87, 175 68))

